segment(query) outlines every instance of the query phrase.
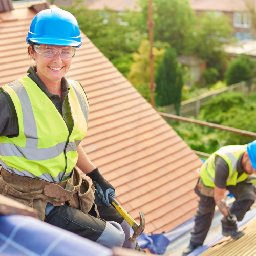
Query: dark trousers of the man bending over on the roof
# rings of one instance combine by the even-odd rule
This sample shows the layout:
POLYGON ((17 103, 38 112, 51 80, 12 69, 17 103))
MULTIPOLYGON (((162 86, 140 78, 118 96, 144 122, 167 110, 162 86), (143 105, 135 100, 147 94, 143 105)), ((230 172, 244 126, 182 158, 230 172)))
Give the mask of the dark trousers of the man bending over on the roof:
MULTIPOLYGON (((236 186, 227 186, 227 190, 229 190, 236 198, 236 201, 230 208, 230 212, 236 215, 238 221, 241 221, 256 199, 255 186, 252 183, 247 183, 245 181, 238 183, 236 186)), ((195 227, 194 232, 191 232, 192 237, 190 243, 195 246, 200 246, 203 245, 212 218, 214 217, 215 201, 213 197, 201 195, 197 187, 195 188, 195 192, 200 196, 200 200, 198 201, 195 227)), ((233 228, 230 229, 230 227, 227 226, 226 221, 222 219, 222 229, 231 230, 233 228)))

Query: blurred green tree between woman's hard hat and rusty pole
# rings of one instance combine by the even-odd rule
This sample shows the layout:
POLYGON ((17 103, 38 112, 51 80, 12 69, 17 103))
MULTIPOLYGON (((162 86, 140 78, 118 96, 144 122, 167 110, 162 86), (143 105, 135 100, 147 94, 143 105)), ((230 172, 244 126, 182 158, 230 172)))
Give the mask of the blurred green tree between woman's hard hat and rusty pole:
POLYGON ((123 15, 108 9, 88 10, 80 1, 75 6, 61 7, 71 12, 80 29, 110 60, 135 52, 146 34, 135 26, 140 20, 139 12, 125 12, 123 15))

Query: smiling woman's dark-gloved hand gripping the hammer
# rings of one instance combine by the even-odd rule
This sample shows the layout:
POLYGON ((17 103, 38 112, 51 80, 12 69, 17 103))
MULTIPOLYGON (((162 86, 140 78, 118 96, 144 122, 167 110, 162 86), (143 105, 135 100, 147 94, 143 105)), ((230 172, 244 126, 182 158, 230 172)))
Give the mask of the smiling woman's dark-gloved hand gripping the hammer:
POLYGON ((94 169, 91 173, 88 173, 87 176, 92 179, 93 184, 96 187, 96 193, 98 197, 106 206, 110 206, 109 195, 113 198, 115 195, 115 188, 101 175, 98 168, 94 169))

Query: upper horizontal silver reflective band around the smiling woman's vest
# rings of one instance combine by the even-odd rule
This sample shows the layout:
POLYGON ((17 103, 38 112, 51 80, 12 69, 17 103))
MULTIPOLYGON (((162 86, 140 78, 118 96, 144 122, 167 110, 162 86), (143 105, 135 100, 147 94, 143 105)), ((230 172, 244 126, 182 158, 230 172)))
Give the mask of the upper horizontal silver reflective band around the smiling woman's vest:
MULTIPOLYGON (((42 161, 58 157, 64 152, 67 141, 61 142, 53 147, 48 148, 27 148, 19 147, 11 143, 0 143, 1 156, 25 157, 31 161, 42 161)), ((76 143, 70 142, 66 152, 76 151, 76 143)))

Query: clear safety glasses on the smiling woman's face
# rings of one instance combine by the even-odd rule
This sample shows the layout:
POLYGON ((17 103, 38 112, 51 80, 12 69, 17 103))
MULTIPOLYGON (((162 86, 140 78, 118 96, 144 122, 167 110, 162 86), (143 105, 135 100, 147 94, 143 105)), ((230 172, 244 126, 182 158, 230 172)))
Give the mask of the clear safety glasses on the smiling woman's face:
POLYGON ((56 55, 57 52, 60 53, 62 58, 71 58, 75 56, 76 48, 70 46, 64 46, 57 48, 54 46, 38 46, 34 45, 34 50, 42 56, 47 58, 52 58, 56 55))

